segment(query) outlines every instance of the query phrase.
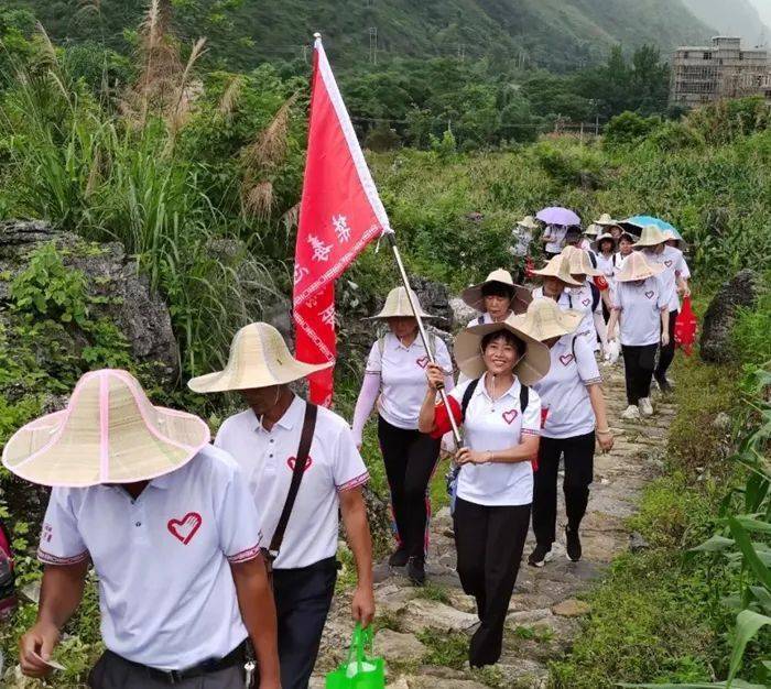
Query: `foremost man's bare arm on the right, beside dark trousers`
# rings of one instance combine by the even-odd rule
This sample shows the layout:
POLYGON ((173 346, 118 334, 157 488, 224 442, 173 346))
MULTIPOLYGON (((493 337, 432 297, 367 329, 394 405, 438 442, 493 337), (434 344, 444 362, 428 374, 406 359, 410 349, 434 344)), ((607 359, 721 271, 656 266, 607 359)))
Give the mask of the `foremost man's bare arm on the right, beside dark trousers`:
POLYGON ((279 643, 275 602, 262 556, 246 562, 230 562, 241 619, 254 645, 260 667, 260 689, 280 689, 279 643))

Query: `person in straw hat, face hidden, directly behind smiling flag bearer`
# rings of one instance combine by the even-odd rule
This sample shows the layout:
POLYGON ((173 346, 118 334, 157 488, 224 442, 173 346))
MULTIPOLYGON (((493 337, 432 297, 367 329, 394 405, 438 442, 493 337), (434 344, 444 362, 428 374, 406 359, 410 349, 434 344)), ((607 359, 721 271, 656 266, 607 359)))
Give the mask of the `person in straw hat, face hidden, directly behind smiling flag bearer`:
POLYGON ((546 418, 541 429, 539 470, 533 495, 535 549, 528 564, 543 567, 556 540, 557 471, 564 457, 565 546, 568 559, 582 556, 578 527, 586 514, 594 477, 595 442, 612 449, 613 436, 602 396, 602 379, 594 353, 576 330, 583 314, 562 310, 553 299, 533 299, 528 313, 515 318, 522 330, 550 349, 549 373, 533 387, 541 397, 546 418))

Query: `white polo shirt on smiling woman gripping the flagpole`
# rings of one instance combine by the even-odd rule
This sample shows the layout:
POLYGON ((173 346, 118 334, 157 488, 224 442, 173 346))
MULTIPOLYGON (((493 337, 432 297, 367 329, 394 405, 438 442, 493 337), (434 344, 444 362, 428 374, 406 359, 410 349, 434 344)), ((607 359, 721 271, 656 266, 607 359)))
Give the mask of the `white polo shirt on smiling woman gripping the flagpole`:
MULTIPOLYGON (((471 381, 458 385, 450 396, 463 404, 471 381)), ((506 450, 522 442, 523 435, 541 431, 541 400, 531 387, 528 408, 520 409, 520 382, 508 392, 490 398, 480 380, 466 409, 464 444, 473 450, 506 450)), ((533 501, 533 467, 529 461, 466 464, 458 474, 458 496, 479 505, 528 505, 533 501)))

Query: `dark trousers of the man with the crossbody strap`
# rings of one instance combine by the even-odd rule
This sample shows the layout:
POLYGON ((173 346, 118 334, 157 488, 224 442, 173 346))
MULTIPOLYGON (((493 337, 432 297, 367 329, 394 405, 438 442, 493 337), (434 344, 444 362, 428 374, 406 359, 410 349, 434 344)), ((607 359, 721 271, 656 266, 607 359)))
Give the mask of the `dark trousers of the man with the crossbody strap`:
POLYGON ((307 689, 336 580, 334 557, 300 569, 273 570, 283 689, 307 689))

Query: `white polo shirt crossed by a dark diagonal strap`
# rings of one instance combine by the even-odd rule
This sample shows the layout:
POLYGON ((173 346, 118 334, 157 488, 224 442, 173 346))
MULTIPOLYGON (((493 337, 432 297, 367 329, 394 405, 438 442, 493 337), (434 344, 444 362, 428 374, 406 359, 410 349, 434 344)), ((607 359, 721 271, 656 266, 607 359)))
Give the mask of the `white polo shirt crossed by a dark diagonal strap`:
MULTIPOLYGON (((305 401, 295 396, 271 430, 246 409, 226 419, 215 439, 217 447, 236 458, 260 505, 265 547, 286 503, 304 416, 305 401)), ((305 474, 273 566, 295 569, 334 557, 339 534, 338 492, 368 480, 348 424, 334 412, 318 407, 305 474)))

